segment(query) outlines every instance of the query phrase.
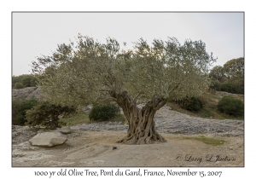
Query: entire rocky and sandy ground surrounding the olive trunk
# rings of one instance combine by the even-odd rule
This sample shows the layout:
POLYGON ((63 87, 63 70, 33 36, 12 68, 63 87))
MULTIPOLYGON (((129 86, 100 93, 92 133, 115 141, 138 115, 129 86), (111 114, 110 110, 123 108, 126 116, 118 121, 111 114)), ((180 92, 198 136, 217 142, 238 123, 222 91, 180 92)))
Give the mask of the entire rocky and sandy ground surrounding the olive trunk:
POLYGON ((13 126, 13 166, 243 166, 244 122, 195 118, 162 107, 154 117, 167 140, 151 145, 118 144, 127 124, 102 122, 72 126, 67 141, 55 147, 35 147, 29 139, 44 130, 13 126), (223 139, 212 146, 189 140, 195 136, 223 139), (113 147, 117 149, 113 150, 113 147))

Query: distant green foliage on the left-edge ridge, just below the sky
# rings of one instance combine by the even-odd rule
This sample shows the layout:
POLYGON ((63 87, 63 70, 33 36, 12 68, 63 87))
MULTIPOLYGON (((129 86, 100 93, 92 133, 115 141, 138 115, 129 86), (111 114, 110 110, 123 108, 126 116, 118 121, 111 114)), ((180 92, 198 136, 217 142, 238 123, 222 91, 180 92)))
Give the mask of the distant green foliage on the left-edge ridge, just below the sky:
POLYGON ((26 87, 34 87, 38 83, 38 79, 34 75, 20 75, 12 77, 12 86, 15 89, 23 89, 26 87))

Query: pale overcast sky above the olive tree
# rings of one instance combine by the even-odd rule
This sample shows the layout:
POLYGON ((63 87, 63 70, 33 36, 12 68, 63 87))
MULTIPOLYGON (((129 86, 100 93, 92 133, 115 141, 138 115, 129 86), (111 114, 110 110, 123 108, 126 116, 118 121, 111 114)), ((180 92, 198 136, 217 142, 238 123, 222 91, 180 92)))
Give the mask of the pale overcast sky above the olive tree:
POLYGON ((51 55, 57 44, 75 41, 79 33, 105 43, 115 38, 123 49, 132 49, 139 38, 177 38, 206 43, 207 52, 218 57, 213 66, 244 56, 244 13, 12 13, 12 75, 32 72, 36 57, 51 55))

